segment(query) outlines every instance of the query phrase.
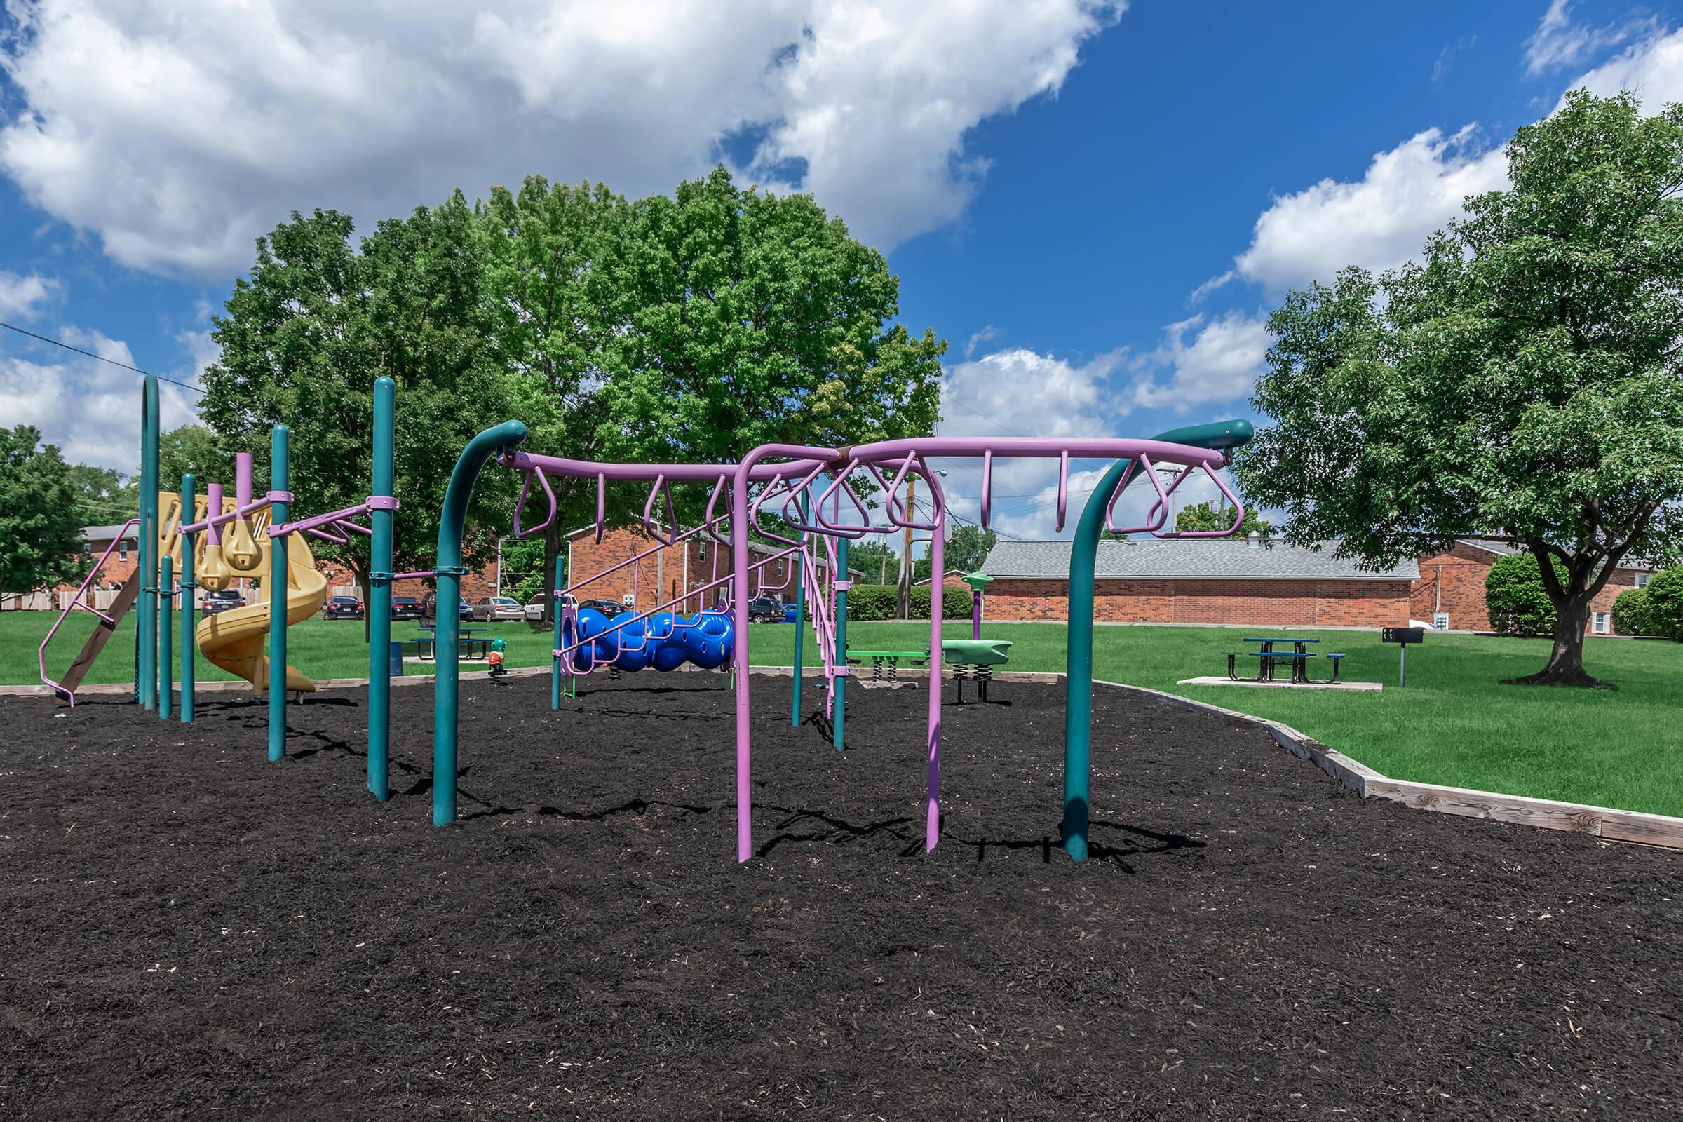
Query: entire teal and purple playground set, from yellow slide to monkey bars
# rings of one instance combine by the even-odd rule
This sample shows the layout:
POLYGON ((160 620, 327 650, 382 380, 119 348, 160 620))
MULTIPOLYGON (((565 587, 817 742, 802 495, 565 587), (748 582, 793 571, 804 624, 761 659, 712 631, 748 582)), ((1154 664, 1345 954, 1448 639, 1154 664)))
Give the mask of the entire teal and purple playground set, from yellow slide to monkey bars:
MULTIPOLYGON (((278 760, 286 752, 286 693, 313 688, 306 676, 286 666, 286 626, 273 626, 283 619, 295 622, 315 611, 325 584, 315 572, 308 547, 300 538, 296 548, 289 542, 298 533, 310 533, 332 542, 345 542, 345 533, 362 533, 372 538, 372 572, 369 599, 369 791, 380 801, 389 789, 389 732, 390 732, 390 582, 402 577, 434 577, 438 601, 453 604, 461 595, 461 543, 468 513, 468 500, 480 473, 496 461, 500 466, 525 474, 520 498, 515 505, 513 533, 528 537, 555 523, 557 501, 549 479, 576 478, 596 481, 596 533, 606 525, 608 483, 646 483, 648 500, 643 505, 643 528, 656 540, 655 548, 675 545, 687 537, 709 533, 730 545, 730 569, 717 574, 698 587, 687 587, 683 595, 641 612, 628 612, 613 621, 596 612, 576 607, 576 592, 608 572, 636 565, 640 553, 619 565, 592 574, 584 580, 564 582, 557 562, 554 595, 559 611, 554 612, 554 651, 550 663, 550 707, 560 707, 562 680, 576 681, 579 675, 597 669, 638 671, 677 669, 693 663, 703 669, 729 664, 735 688, 735 834, 737 860, 752 855, 752 801, 751 801, 751 678, 749 649, 746 643, 749 604, 759 592, 781 590, 794 584, 796 619, 808 616, 820 646, 820 666, 825 686, 825 708, 831 723, 836 749, 845 747, 847 725, 847 580, 848 542, 867 535, 885 535, 899 530, 929 533, 931 572, 944 574, 944 545, 948 533, 948 503, 941 476, 929 466, 931 458, 981 459, 981 527, 990 525, 993 461, 995 458, 1037 458, 1059 461, 1057 527, 1064 528, 1069 511, 1069 463, 1079 459, 1111 459, 1099 484, 1082 508, 1075 538, 1070 548, 1069 582, 1069 651, 1065 673, 1065 728, 1064 728, 1064 811, 1062 841, 1065 853, 1080 861, 1089 849, 1089 786, 1091 786, 1091 715, 1092 715, 1092 607, 1094 562, 1097 542, 1104 530, 1116 533, 1151 533, 1173 537, 1227 537, 1244 520, 1244 508, 1220 478, 1230 449, 1250 439, 1250 426, 1244 421, 1192 426, 1163 432, 1149 441, 1138 439, 1074 439, 1074 437, 912 437, 879 441, 852 447, 820 447, 804 444, 764 444, 752 449, 734 464, 614 464, 576 461, 555 456, 525 453, 525 426, 507 421, 475 436, 456 459, 438 521, 438 558, 431 572, 392 574, 392 520, 397 500, 392 496, 392 454, 396 426, 396 387, 390 378, 374 384, 374 447, 370 493, 364 503, 289 521, 293 495, 288 488, 289 431, 278 424, 271 432, 271 481, 266 495, 251 493, 251 458, 242 456, 236 479, 232 505, 222 488, 212 484, 200 505, 194 493, 192 476, 182 478, 180 496, 162 496, 158 491, 158 409, 157 382, 146 378, 143 395, 141 436, 141 510, 133 520, 140 537, 140 569, 125 587, 133 589, 130 602, 140 604, 136 651, 136 701, 146 710, 170 715, 170 602, 175 594, 172 562, 180 558, 182 595, 182 722, 194 718, 192 643, 197 638, 207 656, 217 659, 231 673, 247 680, 254 690, 268 681, 268 732, 269 759, 278 760), (1178 473, 1165 488, 1156 468, 1175 466, 1178 473), (892 473, 889 478, 887 473, 892 473), (1175 532, 1165 530, 1170 520, 1170 498, 1193 474, 1203 473, 1232 503, 1234 521, 1225 530, 1175 532), (924 479, 931 495, 931 513, 919 515, 902 503, 902 483, 924 479), (1144 478, 1153 490, 1151 506, 1139 525, 1116 525, 1116 503, 1126 488, 1144 478), (534 525, 522 525, 522 511, 537 483, 549 500, 547 516, 534 525), (855 483, 860 486, 857 488, 855 483), (710 484, 707 513, 702 525, 680 532, 672 500, 673 484, 710 484), (860 496, 860 488, 873 488, 882 495, 882 518, 873 520, 860 496), (178 525, 180 515, 172 513, 168 532, 160 527, 160 498, 170 498, 165 513, 192 508, 195 520, 178 525), (655 508, 661 503, 665 520, 656 525, 655 508), (764 521, 764 511, 778 515, 774 525, 764 521), (215 513, 212 513, 215 511, 215 513), (362 515, 369 525, 353 521, 362 515), (224 527, 227 527, 224 540, 224 527), (752 543, 772 543, 774 552, 759 560, 747 560, 752 543), (204 535, 200 540, 197 535, 204 535), (173 552, 172 552, 173 550, 173 552), (774 562, 784 565, 784 584, 769 585, 766 574, 774 562), (202 570, 202 572, 200 572, 202 570), (234 572, 269 575, 264 580, 268 604, 254 606, 244 614, 227 612, 226 624, 207 619, 199 627, 188 626, 194 616, 192 589, 199 587, 195 574, 205 587, 226 587, 234 572), (281 580, 274 574, 284 572, 281 580), (715 592, 717 590, 717 592, 715 592), (685 601, 714 592, 712 607, 702 607, 695 616, 673 612, 685 601), (264 651, 264 638, 268 649, 264 651), (209 643, 209 644, 207 644, 209 643)), ((101 558, 103 560, 103 558, 101 558)), ((98 572, 98 569, 96 569, 98 572)), ((82 584, 86 590, 88 582, 82 584)), ((973 587, 973 636, 954 651, 959 666, 985 671, 1003 663, 1006 646, 981 639, 981 580, 973 587)), ((703 601, 698 601, 703 602, 703 601)), ((705 602, 703 602, 705 604, 705 602)), ((66 614, 77 607, 76 602, 66 614)), ((82 606, 88 607, 88 606, 82 606)), ((88 607, 88 611, 94 611, 88 607)), ((239 609, 236 609, 239 611, 239 609)), ((103 617, 104 634, 89 639, 103 646, 118 617, 103 617)), ((62 616, 61 616, 62 622, 62 616)), ((929 717, 926 737, 926 806, 924 849, 934 849, 941 838, 941 673, 942 654, 942 602, 931 590, 929 611, 929 717)), ((57 624, 54 626, 54 631, 57 624)), ((433 720, 433 823, 443 826, 456 818, 458 777, 458 695, 459 695, 459 638, 461 622, 456 612, 439 612, 436 649, 439 651, 434 678, 433 720)), ((801 723, 804 626, 796 627, 794 675, 791 691, 791 722, 801 723)), ((49 634, 50 641, 50 634, 49 634)), ((94 654, 98 654, 94 646, 94 654)), ((86 671, 88 649, 77 659, 77 673, 86 671)), ((76 669, 76 668, 72 668, 76 669)), ((986 675, 978 675, 986 680, 986 675)), ((45 644, 42 644, 42 680, 74 703, 74 685, 52 681, 45 673, 45 644)))

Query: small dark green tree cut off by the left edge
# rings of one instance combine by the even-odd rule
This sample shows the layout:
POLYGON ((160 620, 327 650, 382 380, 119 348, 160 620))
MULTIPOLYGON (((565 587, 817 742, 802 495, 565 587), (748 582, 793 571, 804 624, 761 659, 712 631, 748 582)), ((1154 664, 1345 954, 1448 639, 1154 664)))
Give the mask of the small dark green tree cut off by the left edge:
POLYGON ((84 510, 56 444, 27 424, 0 429, 0 595, 82 575, 84 510))

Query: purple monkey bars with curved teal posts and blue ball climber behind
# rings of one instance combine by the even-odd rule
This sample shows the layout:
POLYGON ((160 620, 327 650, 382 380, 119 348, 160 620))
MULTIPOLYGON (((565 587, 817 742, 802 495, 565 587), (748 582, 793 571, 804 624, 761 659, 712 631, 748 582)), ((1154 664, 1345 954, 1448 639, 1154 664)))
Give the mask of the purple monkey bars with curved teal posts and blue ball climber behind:
MULTIPOLYGON (((466 518, 468 496, 480 473, 493 461, 503 468, 525 474, 520 488, 520 500, 515 508, 513 533, 525 537, 554 525, 557 503, 550 476, 596 481, 596 533, 597 540, 606 525, 608 483, 646 483, 648 498, 643 503, 643 530, 656 540, 655 548, 675 545, 690 535, 710 533, 719 540, 729 540, 732 567, 724 577, 715 577, 700 589, 685 589, 682 597, 663 602, 641 612, 628 612, 613 621, 584 617, 572 607, 574 592, 591 580, 608 575, 626 565, 636 564, 650 552, 621 562, 603 574, 594 574, 586 580, 562 585, 557 567, 557 587, 554 594, 560 597, 560 611, 555 619, 555 648, 550 666, 552 688, 550 705, 559 707, 562 696, 562 678, 574 678, 579 673, 592 673, 599 668, 619 666, 623 669, 640 669, 655 659, 663 649, 670 666, 675 668, 683 658, 693 658, 692 649, 702 649, 703 658, 695 659, 705 664, 715 654, 729 658, 735 680, 735 828, 737 828, 737 861, 752 856, 752 749, 751 749, 751 678, 749 649, 742 636, 749 626, 749 602, 756 592, 767 590, 764 584, 766 567, 783 558, 793 558, 789 579, 796 582, 796 619, 811 614, 813 629, 818 636, 820 658, 825 678, 825 707, 831 720, 836 747, 843 745, 847 722, 847 548, 848 542, 865 535, 884 535, 897 530, 921 530, 929 533, 931 572, 944 572, 944 543, 948 532, 946 495, 939 473, 929 468, 931 458, 980 458, 981 459, 981 525, 988 527, 991 518, 993 461, 995 458, 1055 458, 1059 461, 1057 481, 1057 527, 1064 528, 1069 508, 1069 461, 1112 459, 1114 463, 1092 491, 1077 523, 1075 543, 1072 547, 1070 565, 1070 626, 1069 626, 1069 673, 1067 683, 1067 717, 1065 717, 1065 759, 1064 759, 1064 849, 1074 860, 1087 856, 1089 833, 1089 774, 1091 774, 1091 703, 1092 703, 1092 580, 1094 557, 1101 530, 1114 533, 1151 533, 1160 538, 1170 537, 1227 537, 1234 533, 1244 520, 1244 508, 1227 483, 1220 478, 1220 469, 1227 464, 1227 451, 1250 439, 1250 426, 1242 421, 1193 426, 1165 432, 1151 441, 1131 439, 1059 439, 1059 437, 914 437, 902 441, 880 441, 852 447, 818 447, 804 444, 764 444, 751 451, 742 461, 734 464, 618 464, 564 459, 542 456, 520 449, 525 441, 525 426, 518 421, 507 421, 500 426, 480 432, 463 449, 451 473, 444 496, 444 510, 439 518, 438 558, 434 570, 439 579, 439 599, 444 602, 459 595, 461 575, 461 535, 466 518), (1158 479, 1156 468, 1176 466, 1180 471, 1165 488, 1158 479), (894 473, 892 478, 887 473, 894 473), (1210 478, 1217 490, 1232 503, 1234 523, 1225 530, 1213 532, 1173 532, 1165 530, 1171 503, 1170 496, 1195 473, 1210 478), (899 498, 900 484, 907 479, 922 478, 931 495, 931 513, 921 516, 909 510, 899 498), (1149 481, 1155 496, 1151 508, 1141 525, 1119 527, 1114 520, 1118 498, 1134 479, 1149 481), (865 486, 875 486, 884 496, 884 518, 873 521, 867 503, 860 498, 853 479, 865 486), (522 525, 522 511, 537 483, 549 500, 549 513, 535 527, 522 525), (702 525, 680 533, 672 500, 673 484, 710 484, 707 513, 702 525), (656 525, 656 503, 665 511, 665 523, 656 525), (767 525, 764 511, 778 515, 778 523, 767 525), (772 543, 772 552, 757 562, 746 564, 751 557, 751 532, 754 543, 772 543), (789 537, 789 535, 794 537, 789 537), (818 577, 820 567, 816 550, 825 552, 828 560, 828 580, 818 577), (673 616, 672 609, 697 594, 720 589, 717 604, 710 611, 702 611, 695 617, 673 616), (725 632, 712 621, 729 617, 730 631, 725 632), (720 643, 719 648, 697 641, 707 636, 707 627, 714 626, 714 636, 735 641, 720 643), (651 632, 653 649, 651 649, 651 632), (613 636, 613 638, 609 638, 613 636), (666 646, 672 644, 672 646, 666 646), (631 656, 626 661, 626 654, 631 656)), ((973 584, 973 589, 978 585, 973 584)), ((980 641, 980 590, 976 594, 974 636, 971 643, 991 646, 966 653, 974 658, 976 666, 995 664, 1003 659, 1003 649, 996 644, 980 641)), ((929 678, 931 683, 941 680, 942 663, 942 606, 937 594, 931 594, 929 611, 929 678)), ((439 648, 456 649, 459 622, 454 617, 439 617, 439 648)), ((794 675, 791 720, 799 725, 799 698, 803 678, 801 636, 804 627, 796 631, 794 675)), ((660 663, 655 663, 660 668, 660 663)), ((434 723, 433 723, 433 823, 443 826, 456 818, 456 772, 458 772, 458 690, 459 671, 454 659, 439 659, 434 683, 434 723)), ((927 757, 926 757, 926 807, 924 807, 924 849, 929 851, 941 838, 941 690, 929 691, 927 720, 927 757)))

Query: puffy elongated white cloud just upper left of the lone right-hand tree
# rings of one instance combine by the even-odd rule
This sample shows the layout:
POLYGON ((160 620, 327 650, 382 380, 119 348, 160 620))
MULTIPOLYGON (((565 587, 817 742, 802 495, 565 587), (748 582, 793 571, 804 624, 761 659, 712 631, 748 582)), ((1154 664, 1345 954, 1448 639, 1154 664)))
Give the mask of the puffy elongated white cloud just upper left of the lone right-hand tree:
POLYGON ((1276 198, 1234 262, 1271 291, 1328 283, 1350 264, 1390 269, 1419 254, 1468 195, 1506 182, 1506 158, 1479 146, 1476 126, 1451 136, 1426 130, 1375 155, 1355 183, 1326 178, 1276 198))

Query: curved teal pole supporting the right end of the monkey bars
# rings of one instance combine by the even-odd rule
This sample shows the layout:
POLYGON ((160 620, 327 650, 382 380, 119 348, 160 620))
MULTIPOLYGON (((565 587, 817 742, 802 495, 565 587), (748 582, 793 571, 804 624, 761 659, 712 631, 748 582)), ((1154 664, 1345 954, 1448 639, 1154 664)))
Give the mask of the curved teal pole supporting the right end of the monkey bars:
MULTIPOLYGON (((1249 421, 1218 421, 1160 432, 1155 441, 1193 447, 1239 447, 1250 439, 1249 421)), ((1104 513, 1116 486, 1133 466, 1131 459, 1111 464, 1075 523, 1069 548, 1069 653, 1064 678, 1064 853, 1087 860, 1087 828, 1092 779, 1092 579, 1099 560, 1104 513)))

